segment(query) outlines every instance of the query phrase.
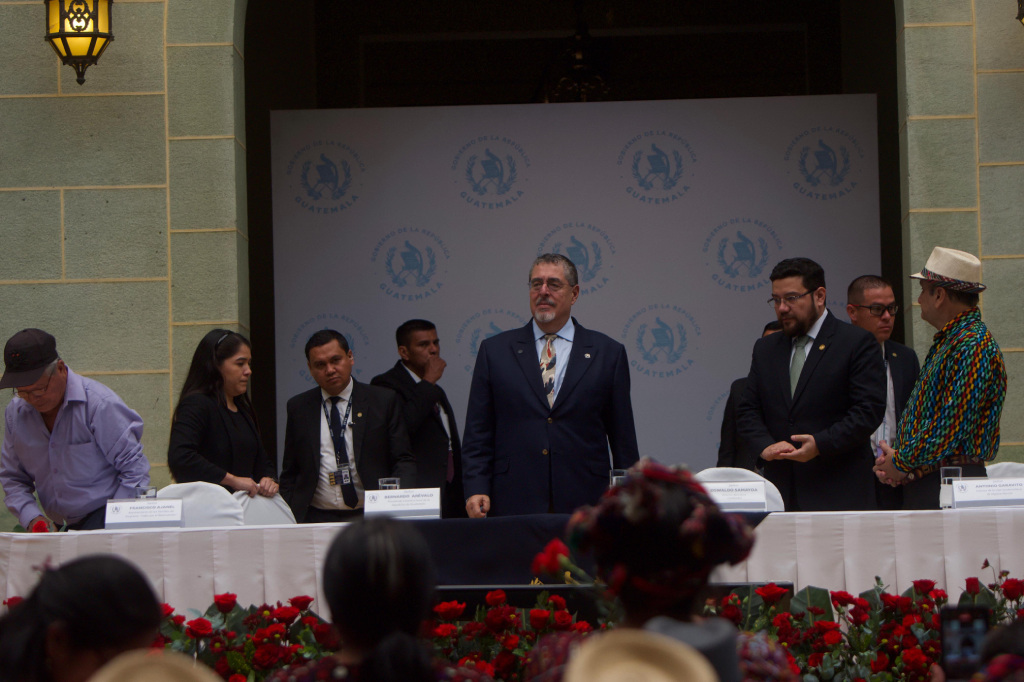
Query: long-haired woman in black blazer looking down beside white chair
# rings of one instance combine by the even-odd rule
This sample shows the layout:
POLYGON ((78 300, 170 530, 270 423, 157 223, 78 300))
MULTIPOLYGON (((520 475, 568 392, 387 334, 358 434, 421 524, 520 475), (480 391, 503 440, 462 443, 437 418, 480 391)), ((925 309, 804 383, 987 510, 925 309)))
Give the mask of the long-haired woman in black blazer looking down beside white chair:
POLYGON ((207 481, 249 497, 278 494, 249 400, 252 346, 215 329, 199 342, 174 409, 167 464, 179 483, 207 481))

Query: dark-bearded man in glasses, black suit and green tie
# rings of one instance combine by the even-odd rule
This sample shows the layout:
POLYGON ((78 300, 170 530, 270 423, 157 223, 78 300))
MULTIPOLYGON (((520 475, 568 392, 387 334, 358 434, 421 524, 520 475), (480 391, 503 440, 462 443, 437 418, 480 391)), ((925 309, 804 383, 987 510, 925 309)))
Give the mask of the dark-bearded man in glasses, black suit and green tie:
POLYGON ((770 279, 783 333, 754 346, 739 432, 786 511, 877 509, 870 437, 886 407, 878 342, 825 309, 813 260, 783 260, 770 279))

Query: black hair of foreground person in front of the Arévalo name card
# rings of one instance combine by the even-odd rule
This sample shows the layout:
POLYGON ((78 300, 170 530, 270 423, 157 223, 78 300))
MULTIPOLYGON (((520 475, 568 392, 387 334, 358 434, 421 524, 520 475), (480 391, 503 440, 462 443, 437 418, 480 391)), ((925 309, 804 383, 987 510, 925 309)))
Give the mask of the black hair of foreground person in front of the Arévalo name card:
POLYGON ((343 644, 367 652, 360 669, 366 679, 433 679, 417 635, 434 586, 427 543, 406 521, 357 521, 335 537, 324 565, 324 594, 343 644))

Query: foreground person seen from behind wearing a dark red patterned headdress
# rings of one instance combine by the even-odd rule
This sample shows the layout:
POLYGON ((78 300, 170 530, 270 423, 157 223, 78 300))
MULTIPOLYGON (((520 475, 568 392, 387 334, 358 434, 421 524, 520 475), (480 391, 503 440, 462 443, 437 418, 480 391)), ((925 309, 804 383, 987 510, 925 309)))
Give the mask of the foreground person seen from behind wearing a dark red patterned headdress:
MULTIPOLYGON (((741 517, 723 513, 685 469, 644 458, 597 505, 578 509, 566 535, 569 548, 593 555, 597 578, 622 602, 620 627, 644 628, 693 646, 721 682, 795 679, 774 642, 740 636, 723 619, 695 614, 712 570, 745 559, 754 536, 741 517)), ((570 649, 564 641, 542 641, 525 680, 560 677, 552 671, 551 647, 570 649)))

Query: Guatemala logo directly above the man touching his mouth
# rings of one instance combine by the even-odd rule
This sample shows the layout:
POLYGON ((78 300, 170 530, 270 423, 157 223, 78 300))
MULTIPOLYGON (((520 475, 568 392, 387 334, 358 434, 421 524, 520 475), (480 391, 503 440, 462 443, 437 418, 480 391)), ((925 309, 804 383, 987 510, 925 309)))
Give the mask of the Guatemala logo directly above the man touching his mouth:
POLYGON ((422 301, 441 290, 451 255, 433 231, 399 227, 377 241, 370 262, 378 266, 379 288, 388 298, 422 301))

